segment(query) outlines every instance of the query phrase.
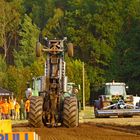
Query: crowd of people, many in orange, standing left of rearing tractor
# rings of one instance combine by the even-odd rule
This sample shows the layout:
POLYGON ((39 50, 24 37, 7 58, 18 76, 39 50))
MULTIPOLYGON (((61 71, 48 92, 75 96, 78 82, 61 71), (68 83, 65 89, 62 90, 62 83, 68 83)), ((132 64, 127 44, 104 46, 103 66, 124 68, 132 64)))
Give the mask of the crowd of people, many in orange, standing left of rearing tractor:
POLYGON ((26 120, 30 111, 30 101, 21 99, 20 103, 13 98, 0 98, 0 120, 26 120))

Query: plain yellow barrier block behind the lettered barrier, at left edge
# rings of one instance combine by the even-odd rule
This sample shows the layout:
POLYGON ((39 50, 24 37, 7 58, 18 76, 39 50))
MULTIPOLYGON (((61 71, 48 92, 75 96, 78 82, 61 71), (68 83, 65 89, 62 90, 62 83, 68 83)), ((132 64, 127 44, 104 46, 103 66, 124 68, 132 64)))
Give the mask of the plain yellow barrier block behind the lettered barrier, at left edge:
POLYGON ((0 133, 12 132, 11 120, 0 120, 0 133))

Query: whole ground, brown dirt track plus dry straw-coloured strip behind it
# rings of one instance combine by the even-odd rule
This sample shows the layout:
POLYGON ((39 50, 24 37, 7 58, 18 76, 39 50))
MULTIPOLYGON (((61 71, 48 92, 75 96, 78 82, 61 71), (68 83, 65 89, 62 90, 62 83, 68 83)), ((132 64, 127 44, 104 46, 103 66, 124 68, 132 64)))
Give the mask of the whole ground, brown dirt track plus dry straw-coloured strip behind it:
POLYGON ((30 128, 28 122, 13 125, 13 131, 35 131, 41 140, 140 140, 140 116, 133 118, 93 117, 93 108, 80 114, 77 128, 30 128), (82 118, 82 119, 81 119, 82 118))

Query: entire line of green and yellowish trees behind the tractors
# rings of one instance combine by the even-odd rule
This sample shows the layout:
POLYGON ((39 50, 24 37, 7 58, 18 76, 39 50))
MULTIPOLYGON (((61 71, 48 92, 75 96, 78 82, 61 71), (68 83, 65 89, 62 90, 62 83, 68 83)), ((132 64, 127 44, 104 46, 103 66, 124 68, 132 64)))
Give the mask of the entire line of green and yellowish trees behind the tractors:
POLYGON ((139 0, 0 0, 0 7, 0 85, 17 97, 27 81, 43 75, 45 57, 35 57, 40 33, 73 42, 67 75, 82 89, 85 63, 87 101, 112 80, 140 95, 139 0))

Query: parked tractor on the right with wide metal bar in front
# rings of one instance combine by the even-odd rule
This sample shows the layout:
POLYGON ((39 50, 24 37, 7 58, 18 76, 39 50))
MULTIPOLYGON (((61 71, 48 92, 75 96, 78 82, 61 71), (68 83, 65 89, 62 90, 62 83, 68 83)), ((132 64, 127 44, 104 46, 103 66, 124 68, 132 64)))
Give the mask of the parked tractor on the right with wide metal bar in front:
POLYGON ((126 89, 126 84, 122 82, 105 83, 104 95, 99 95, 94 101, 95 118, 140 115, 140 109, 133 104, 133 95, 127 95, 126 89))

